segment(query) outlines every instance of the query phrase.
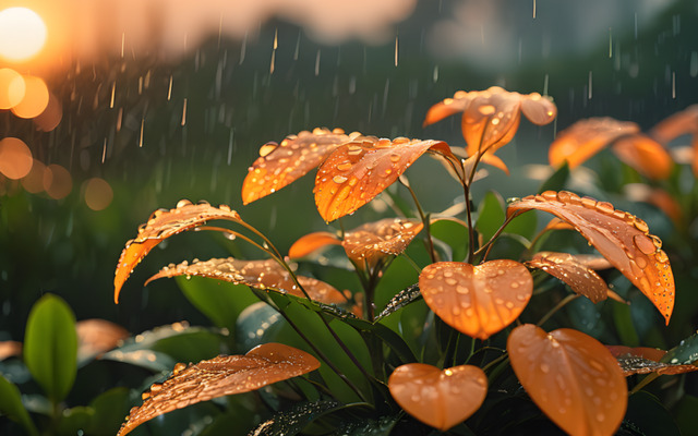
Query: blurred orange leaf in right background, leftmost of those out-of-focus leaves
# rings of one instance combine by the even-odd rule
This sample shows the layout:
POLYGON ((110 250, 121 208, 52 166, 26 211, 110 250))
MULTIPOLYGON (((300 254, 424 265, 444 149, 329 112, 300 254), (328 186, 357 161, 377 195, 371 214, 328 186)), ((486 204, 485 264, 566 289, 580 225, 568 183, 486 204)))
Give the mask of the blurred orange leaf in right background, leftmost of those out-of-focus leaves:
POLYGON ((550 165, 561 166, 565 160, 569 168, 579 166, 603 147, 621 136, 638 133, 640 126, 634 122, 613 118, 589 118, 580 120, 557 134, 550 145, 550 165))

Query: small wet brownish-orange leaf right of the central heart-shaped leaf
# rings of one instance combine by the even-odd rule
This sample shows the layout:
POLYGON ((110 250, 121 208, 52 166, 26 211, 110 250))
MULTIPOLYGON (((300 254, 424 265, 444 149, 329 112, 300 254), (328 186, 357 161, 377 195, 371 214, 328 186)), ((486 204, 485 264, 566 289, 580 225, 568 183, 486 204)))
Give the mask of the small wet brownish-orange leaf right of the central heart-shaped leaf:
POLYGON ((609 286, 591 268, 586 267, 569 253, 540 252, 526 262, 531 268, 542 269, 564 281, 575 293, 585 295, 593 303, 609 296, 609 286))

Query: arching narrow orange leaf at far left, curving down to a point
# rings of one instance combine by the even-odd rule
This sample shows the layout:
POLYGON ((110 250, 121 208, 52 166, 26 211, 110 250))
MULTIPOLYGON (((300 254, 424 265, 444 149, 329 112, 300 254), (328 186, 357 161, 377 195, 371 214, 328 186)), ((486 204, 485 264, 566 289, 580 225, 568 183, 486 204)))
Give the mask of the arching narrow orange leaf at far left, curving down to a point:
POLYGON ((220 205, 214 207, 206 202, 194 205, 189 199, 181 199, 173 209, 154 211, 147 222, 139 227, 139 234, 135 239, 127 242, 125 249, 119 256, 119 264, 113 278, 115 303, 119 304, 119 292, 133 268, 155 245, 173 234, 203 226, 212 219, 242 221, 240 215, 234 210, 230 210, 229 206, 220 205))

